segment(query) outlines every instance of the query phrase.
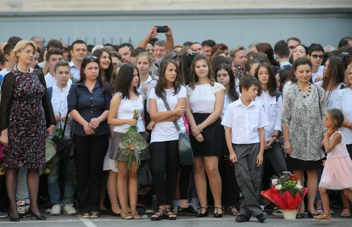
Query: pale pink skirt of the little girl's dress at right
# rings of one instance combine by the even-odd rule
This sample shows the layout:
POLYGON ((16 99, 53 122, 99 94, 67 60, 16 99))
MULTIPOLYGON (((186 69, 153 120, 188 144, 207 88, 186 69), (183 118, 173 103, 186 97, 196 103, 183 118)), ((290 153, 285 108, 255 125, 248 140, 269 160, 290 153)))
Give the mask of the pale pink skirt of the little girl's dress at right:
POLYGON ((352 161, 349 156, 326 159, 319 187, 352 190, 352 161))

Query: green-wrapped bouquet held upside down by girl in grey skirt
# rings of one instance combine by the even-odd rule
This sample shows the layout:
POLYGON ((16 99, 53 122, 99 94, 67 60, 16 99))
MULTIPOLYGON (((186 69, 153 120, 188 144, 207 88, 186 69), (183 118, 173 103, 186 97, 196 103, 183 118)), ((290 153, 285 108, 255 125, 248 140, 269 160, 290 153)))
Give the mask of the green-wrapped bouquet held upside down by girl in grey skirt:
MULTIPOLYGON (((138 120, 139 110, 135 109, 133 114, 133 119, 138 120)), ((130 169, 132 163, 137 161, 140 164, 139 155, 145 148, 148 147, 148 144, 145 142, 142 135, 137 131, 137 126, 131 126, 129 131, 122 136, 122 139, 119 143, 119 147, 124 155, 126 155, 126 162, 128 169, 130 169)))

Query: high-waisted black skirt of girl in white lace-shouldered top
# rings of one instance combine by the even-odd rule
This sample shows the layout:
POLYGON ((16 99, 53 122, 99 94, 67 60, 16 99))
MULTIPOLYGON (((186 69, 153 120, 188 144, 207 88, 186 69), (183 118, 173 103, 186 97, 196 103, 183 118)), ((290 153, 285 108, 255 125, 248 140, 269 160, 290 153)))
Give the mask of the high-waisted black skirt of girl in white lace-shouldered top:
MULTIPOLYGON (((193 113, 197 125, 204 122, 209 115, 210 113, 193 113)), ((202 136, 203 142, 198 142, 195 137, 190 136, 193 156, 224 156, 228 153, 225 129, 221 125, 220 118, 203 129, 202 136)))

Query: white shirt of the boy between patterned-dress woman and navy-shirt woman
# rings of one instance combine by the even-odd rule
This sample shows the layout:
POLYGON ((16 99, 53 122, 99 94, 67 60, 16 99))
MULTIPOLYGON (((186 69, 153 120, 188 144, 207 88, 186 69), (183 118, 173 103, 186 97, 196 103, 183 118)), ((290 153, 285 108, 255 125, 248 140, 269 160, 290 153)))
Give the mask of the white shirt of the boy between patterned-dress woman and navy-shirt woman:
MULTIPOLYGON (((70 80, 68 80, 70 81, 70 80)), ((51 105, 53 106, 54 115, 58 115, 61 118, 67 115, 67 95, 70 90, 71 85, 67 85, 64 88, 59 88, 56 84, 53 87, 53 93, 51 96, 51 105)), ((63 129, 65 122, 61 122, 61 128, 63 129)), ((66 125, 65 136, 68 138, 70 136, 71 123, 66 125)), ((60 128, 60 122, 56 124, 56 129, 60 128)))

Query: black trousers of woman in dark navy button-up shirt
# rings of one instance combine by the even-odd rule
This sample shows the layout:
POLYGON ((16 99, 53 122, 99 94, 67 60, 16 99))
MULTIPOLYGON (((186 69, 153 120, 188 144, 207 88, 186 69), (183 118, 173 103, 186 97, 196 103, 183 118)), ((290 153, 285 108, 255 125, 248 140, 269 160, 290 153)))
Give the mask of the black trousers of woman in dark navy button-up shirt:
POLYGON ((99 212, 103 163, 109 148, 109 134, 102 136, 74 135, 76 193, 81 214, 99 212))

